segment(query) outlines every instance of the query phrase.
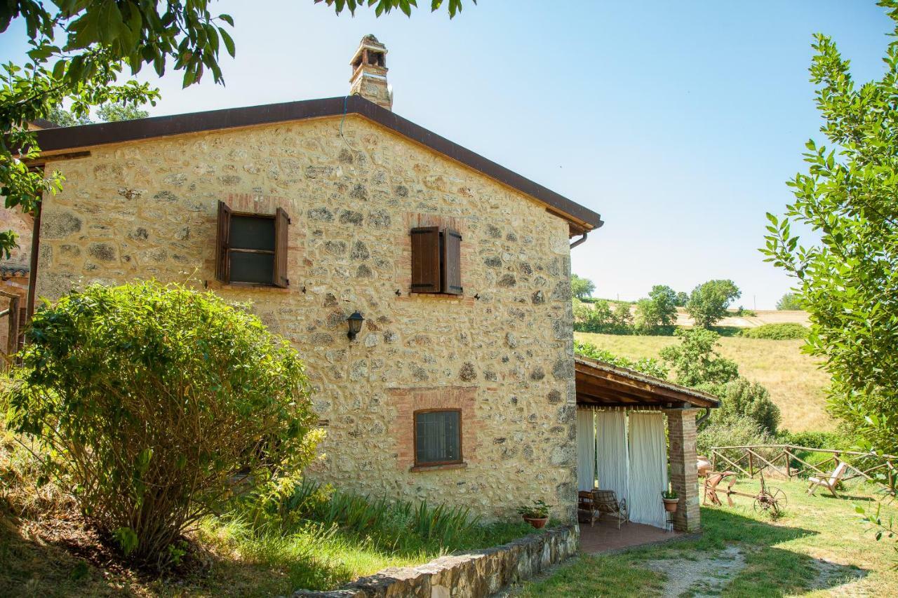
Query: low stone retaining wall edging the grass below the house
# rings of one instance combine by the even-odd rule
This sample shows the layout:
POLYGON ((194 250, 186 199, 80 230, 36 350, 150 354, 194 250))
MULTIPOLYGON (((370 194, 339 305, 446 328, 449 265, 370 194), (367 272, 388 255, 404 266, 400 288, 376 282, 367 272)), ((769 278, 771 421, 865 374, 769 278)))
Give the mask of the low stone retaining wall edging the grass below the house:
POLYGON ((390 567, 339 590, 300 590, 294 598, 476 598, 495 594, 577 552, 579 532, 570 525, 487 550, 437 558, 418 567, 390 567))

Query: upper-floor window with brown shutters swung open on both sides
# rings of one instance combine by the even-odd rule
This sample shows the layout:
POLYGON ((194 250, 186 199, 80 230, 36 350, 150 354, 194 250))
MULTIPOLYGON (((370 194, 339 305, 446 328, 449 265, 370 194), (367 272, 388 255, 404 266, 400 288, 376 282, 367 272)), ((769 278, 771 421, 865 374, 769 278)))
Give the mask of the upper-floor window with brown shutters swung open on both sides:
POLYGON ((279 207, 274 215, 239 214, 219 201, 216 278, 224 283, 288 286, 288 224, 289 216, 279 207))

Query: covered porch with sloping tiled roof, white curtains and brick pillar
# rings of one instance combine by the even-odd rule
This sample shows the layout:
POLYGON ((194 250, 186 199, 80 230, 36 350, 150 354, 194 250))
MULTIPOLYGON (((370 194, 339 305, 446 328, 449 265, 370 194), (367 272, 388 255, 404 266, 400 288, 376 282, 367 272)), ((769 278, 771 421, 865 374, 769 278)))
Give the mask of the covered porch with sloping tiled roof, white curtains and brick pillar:
POLYGON ((577 489, 613 490, 621 505, 626 503, 631 522, 621 523, 618 532, 618 522, 609 528, 612 517, 604 514, 581 525, 581 541, 634 545, 655 541, 658 534, 664 538, 668 515, 661 492, 668 484, 678 498, 670 518, 674 532, 697 532, 697 417, 707 417, 718 399, 584 356, 577 356, 574 365, 577 489), (639 541, 627 544, 633 540, 639 541))

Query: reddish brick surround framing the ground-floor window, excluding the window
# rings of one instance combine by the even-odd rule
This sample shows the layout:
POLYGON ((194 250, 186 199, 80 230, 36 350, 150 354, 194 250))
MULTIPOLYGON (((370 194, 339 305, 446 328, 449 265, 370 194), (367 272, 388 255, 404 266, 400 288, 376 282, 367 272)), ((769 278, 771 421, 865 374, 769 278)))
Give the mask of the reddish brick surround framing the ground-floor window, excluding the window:
POLYGON ((475 417, 476 386, 387 389, 396 415, 390 422, 390 437, 396 447, 396 465, 400 470, 455 470, 476 463, 478 438, 483 423, 475 417), (460 409, 462 412, 462 462, 444 465, 415 465, 415 412, 427 409, 460 409))

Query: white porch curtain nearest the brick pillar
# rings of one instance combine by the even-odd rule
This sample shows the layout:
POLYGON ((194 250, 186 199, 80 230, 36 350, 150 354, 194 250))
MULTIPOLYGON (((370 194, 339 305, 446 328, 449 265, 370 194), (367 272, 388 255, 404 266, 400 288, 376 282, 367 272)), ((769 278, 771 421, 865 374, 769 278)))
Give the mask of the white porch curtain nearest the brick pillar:
MULTIPOLYGON (((601 478, 600 478, 601 483, 601 478)), ((661 492, 667 488, 665 419, 661 413, 629 414, 630 521, 665 527, 661 492)))

